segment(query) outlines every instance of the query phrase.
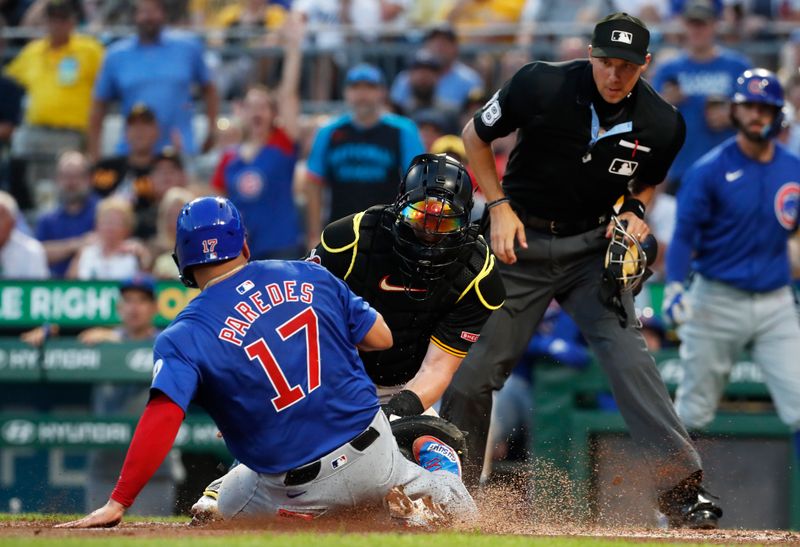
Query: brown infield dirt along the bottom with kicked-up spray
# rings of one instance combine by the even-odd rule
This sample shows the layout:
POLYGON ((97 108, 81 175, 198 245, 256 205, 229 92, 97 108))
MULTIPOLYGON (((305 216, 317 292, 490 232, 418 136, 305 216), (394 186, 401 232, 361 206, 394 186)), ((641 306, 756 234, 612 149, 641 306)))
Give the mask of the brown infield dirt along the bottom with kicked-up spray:
MULTIPOLYGON (((572 485, 563 473, 552 469, 537 474, 534 488, 520 479, 503 485, 484 489, 477 499, 481 517, 477 522, 455 523, 447 531, 488 537, 524 536, 531 538, 572 538, 573 540, 625 540, 634 543, 717 543, 717 544, 796 544, 800 545, 800 533, 785 530, 662 530, 641 525, 587 526, 579 524, 576 515, 585 506, 572 497, 572 485), (542 492, 534 495, 532 492, 542 492)), ((358 511, 338 513, 336 516, 305 521, 293 518, 234 520, 215 522, 203 526, 189 526, 186 522, 148 522, 133 518, 115 528, 95 530, 64 530, 53 526, 65 522, 64 516, 50 518, 29 517, 0 520, 0 540, 7 537, 115 537, 137 538, 191 538, 219 537, 250 534, 365 534, 429 533, 435 530, 401 528, 392 522, 383 507, 362 508, 358 511)), ((724 525, 724 518, 722 521, 724 525)), ((324 541, 317 547, 324 547, 324 541)), ((588 543, 588 541, 587 541, 588 543)))

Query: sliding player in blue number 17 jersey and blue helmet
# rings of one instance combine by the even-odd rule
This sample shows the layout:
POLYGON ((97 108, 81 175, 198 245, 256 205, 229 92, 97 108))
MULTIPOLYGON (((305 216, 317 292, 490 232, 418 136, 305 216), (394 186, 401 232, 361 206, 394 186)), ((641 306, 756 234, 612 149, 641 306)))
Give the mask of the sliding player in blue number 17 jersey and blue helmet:
POLYGON ((175 259, 184 284, 201 293, 156 340, 151 398, 111 498, 65 526, 118 523, 191 402, 241 462, 219 492, 225 518, 315 518, 414 497, 437 514, 473 516, 455 451, 420 437, 415 465, 380 410, 356 348, 392 345, 383 318, 316 264, 248 263, 244 236, 226 199, 199 198, 181 211, 175 259))

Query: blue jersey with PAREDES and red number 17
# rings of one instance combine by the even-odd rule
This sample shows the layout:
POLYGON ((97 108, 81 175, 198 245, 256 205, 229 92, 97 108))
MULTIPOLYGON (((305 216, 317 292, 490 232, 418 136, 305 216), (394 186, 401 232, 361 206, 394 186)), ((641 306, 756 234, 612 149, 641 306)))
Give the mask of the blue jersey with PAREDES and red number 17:
POLYGON ((252 262, 203 290, 156 340, 152 388, 213 418, 233 456, 282 473, 378 412, 356 344, 377 312, 310 262, 252 262))

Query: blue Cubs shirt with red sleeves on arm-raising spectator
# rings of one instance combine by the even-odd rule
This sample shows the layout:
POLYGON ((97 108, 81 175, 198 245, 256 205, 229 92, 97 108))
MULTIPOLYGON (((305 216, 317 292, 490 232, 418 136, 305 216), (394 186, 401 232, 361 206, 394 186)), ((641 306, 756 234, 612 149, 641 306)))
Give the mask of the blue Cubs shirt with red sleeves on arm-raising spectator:
POLYGON ((269 258, 270 253, 296 248, 302 241, 292 193, 296 163, 296 144, 275 128, 255 157, 245 160, 238 148, 227 150, 214 173, 211 186, 239 209, 256 258, 269 258))

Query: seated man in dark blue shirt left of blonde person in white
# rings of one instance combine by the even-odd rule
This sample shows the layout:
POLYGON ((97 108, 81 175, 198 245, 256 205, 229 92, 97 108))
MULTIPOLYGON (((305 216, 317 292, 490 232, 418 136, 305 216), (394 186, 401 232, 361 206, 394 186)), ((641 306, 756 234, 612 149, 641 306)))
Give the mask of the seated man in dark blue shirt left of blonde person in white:
POLYGON ((39 217, 36 239, 44 245, 50 273, 64 277, 70 260, 94 237, 97 196, 89 163, 80 152, 65 152, 56 166, 58 206, 39 217))

